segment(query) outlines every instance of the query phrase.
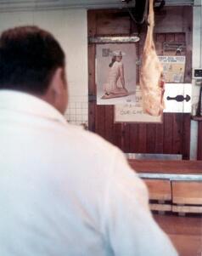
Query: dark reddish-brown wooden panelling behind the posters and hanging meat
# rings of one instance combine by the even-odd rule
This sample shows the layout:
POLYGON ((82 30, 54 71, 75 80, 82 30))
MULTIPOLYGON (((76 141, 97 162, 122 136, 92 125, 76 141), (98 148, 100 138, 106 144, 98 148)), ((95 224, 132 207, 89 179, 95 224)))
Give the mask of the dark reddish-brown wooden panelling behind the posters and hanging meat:
MULTIPOLYGON (((163 43, 184 42, 187 57, 186 82, 191 81, 191 45, 192 27, 191 7, 166 8, 164 14, 156 15, 154 40, 158 54, 164 54, 163 43), (171 17, 170 17, 170 12, 171 17), (165 16, 165 14, 167 15, 165 16), (169 15, 168 15, 169 13, 169 15), (180 15, 180 17, 178 17, 180 15), (187 16, 186 16, 187 15, 187 16), (171 20, 172 19, 172 20, 171 20), (173 20, 176 19, 176 20, 173 20)), ((88 37, 95 36, 130 36, 137 32, 137 26, 124 10, 90 10, 88 11, 88 37)), ((141 40, 136 43, 137 58, 141 60, 146 26, 142 26, 141 40)), ((112 105, 96 105, 95 84, 95 45, 88 47, 89 72, 89 129, 100 134, 123 151, 132 153, 167 153, 182 154, 189 158, 190 115, 182 113, 165 113, 162 123, 114 123, 112 105)), ((139 66, 137 65, 137 83, 139 66)))

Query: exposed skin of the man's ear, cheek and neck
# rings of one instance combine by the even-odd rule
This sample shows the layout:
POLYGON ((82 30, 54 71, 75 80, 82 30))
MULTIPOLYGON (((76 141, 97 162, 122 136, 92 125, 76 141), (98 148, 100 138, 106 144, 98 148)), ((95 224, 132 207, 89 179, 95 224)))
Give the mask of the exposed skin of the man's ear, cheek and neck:
POLYGON ((49 83, 48 91, 43 100, 48 101, 58 111, 64 113, 67 105, 67 84, 65 80, 64 68, 57 68, 49 83))

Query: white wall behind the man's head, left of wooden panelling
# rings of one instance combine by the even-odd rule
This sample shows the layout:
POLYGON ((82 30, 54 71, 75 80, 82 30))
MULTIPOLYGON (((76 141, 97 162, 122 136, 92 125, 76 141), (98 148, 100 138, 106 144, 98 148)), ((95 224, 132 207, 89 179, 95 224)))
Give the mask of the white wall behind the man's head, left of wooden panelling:
POLYGON ((49 10, 0 14, 0 32, 13 26, 36 25, 53 33, 65 50, 69 106, 65 117, 87 123, 87 11, 49 10))

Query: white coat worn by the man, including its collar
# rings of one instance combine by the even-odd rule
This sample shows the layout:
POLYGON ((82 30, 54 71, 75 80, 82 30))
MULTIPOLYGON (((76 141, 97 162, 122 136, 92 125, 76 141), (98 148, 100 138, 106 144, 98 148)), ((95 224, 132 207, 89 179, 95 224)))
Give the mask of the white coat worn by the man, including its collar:
POLYGON ((0 91, 1 256, 174 256, 119 149, 0 91))

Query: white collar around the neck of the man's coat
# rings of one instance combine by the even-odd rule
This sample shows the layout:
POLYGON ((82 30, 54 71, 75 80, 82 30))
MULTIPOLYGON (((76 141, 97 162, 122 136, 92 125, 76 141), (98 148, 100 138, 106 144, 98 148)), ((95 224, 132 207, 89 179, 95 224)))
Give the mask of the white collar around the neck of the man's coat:
POLYGON ((0 110, 20 111, 29 115, 53 119, 66 124, 65 117, 48 102, 31 94, 14 90, 0 90, 0 110))

